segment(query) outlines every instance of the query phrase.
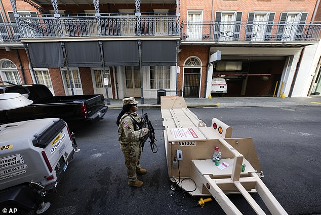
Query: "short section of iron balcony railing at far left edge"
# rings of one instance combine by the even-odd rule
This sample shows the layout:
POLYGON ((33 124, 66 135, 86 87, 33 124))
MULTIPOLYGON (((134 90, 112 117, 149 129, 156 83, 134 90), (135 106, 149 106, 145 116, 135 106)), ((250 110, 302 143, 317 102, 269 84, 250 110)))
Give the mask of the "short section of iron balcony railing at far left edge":
POLYGON ((0 44, 7 42, 20 42, 20 33, 17 24, 0 23, 0 44))

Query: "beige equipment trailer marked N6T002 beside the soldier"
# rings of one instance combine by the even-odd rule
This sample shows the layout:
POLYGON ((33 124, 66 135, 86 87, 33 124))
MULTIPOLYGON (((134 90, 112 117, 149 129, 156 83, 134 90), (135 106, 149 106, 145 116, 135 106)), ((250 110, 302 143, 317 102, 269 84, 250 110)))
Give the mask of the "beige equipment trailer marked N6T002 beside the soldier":
POLYGON ((266 214, 249 194, 257 192, 271 214, 288 214, 261 180, 252 138, 231 138, 232 128, 217 118, 207 127, 183 97, 161 97, 160 101, 168 174, 182 189, 192 191, 196 184, 189 194, 212 195, 226 214, 242 214, 226 196, 240 193, 257 214, 266 214), (219 166, 212 161, 215 147, 222 153, 219 166), (242 164, 246 165, 243 172, 242 164))

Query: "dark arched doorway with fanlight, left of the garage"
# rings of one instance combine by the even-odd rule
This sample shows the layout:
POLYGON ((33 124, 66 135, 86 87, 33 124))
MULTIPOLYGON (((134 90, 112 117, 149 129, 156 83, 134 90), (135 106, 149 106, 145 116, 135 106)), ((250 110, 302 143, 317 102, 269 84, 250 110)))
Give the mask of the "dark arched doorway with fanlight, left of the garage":
POLYGON ((199 97, 200 73, 202 64, 196 57, 188 58, 184 63, 184 97, 199 97))

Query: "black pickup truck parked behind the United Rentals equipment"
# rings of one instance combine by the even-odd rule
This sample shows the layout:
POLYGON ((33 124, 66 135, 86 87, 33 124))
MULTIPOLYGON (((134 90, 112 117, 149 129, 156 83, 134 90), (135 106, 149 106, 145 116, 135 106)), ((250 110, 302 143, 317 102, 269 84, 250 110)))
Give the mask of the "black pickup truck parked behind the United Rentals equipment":
POLYGON ((20 93, 33 103, 18 109, 0 111, 0 124, 41 118, 93 123, 102 119, 108 109, 102 94, 53 96, 43 84, 0 85, 0 94, 3 93, 20 93))

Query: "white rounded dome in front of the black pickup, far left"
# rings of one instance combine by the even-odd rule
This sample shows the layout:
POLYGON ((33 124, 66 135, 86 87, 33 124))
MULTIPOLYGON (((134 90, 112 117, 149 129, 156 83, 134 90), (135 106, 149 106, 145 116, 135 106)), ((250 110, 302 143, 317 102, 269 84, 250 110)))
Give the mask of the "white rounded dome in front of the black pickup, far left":
POLYGON ((31 105, 32 103, 33 101, 27 99, 19 93, 0 94, 0 111, 17 109, 31 105))

